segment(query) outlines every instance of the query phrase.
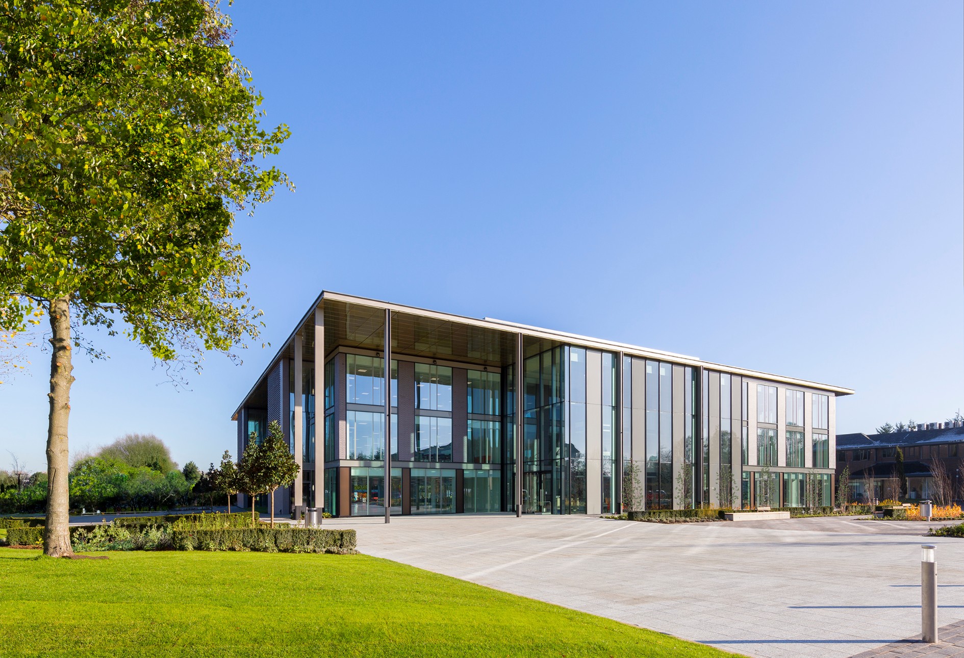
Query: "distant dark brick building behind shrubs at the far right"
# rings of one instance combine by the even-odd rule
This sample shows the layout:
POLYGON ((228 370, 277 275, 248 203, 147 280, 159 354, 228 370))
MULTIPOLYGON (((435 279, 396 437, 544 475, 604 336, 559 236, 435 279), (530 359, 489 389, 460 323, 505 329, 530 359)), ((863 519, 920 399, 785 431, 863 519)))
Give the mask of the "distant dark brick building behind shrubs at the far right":
POLYGON ((961 499, 964 487, 964 423, 927 423, 909 432, 837 434, 837 479, 850 468, 851 500, 899 497, 897 448, 904 458, 907 496, 937 498, 935 470, 948 475, 951 498, 961 499))

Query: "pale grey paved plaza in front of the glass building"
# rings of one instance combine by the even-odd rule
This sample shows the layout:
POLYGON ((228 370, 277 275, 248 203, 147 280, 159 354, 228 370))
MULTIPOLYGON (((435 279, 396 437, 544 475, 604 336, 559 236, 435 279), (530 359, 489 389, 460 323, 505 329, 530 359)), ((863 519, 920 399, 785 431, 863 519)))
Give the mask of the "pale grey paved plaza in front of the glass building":
POLYGON ((357 528, 362 553, 774 658, 923 649, 880 651, 920 634, 920 546, 935 543, 938 625, 964 619, 964 540, 924 538, 926 523, 460 515, 325 527, 357 528))

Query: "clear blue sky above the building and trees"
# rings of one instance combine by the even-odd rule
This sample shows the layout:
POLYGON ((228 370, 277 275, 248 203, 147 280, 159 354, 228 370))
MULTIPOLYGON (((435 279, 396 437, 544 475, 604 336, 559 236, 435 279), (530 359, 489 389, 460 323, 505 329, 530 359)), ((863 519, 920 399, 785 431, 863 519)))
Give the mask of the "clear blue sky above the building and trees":
MULTIPOLYGON (((856 389, 838 430, 964 407, 959 2, 229 8, 291 139, 235 233, 275 343, 189 389, 100 340, 71 448, 233 451, 230 413, 321 289, 856 389)), ((44 468, 46 371, 0 386, 44 468)))

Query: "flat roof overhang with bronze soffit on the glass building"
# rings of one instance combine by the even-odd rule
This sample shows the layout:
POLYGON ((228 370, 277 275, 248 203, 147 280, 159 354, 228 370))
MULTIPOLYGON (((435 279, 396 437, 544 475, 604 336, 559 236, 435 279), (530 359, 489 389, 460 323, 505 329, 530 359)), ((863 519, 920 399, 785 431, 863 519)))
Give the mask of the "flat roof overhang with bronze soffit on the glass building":
POLYGON ((254 383, 237 412, 264 383, 271 368, 281 358, 294 355, 294 336, 302 334, 306 361, 314 360, 314 309, 319 306, 325 311, 325 354, 337 346, 356 347, 379 352, 384 349, 385 309, 392 311, 392 354, 425 356, 475 363, 478 365, 502 366, 515 360, 515 336, 521 333, 530 339, 525 344, 526 355, 537 354, 548 347, 559 344, 623 352, 630 356, 669 360, 681 365, 703 366, 722 370, 734 375, 753 377, 772 382, 818 388, 835 395, 850 395, 853 390, 841 386, 808 382, 745 368, 735 368, 718 363, 703 361, 696 356, 679 355, 672 352, 652 350, 638 345, 582 336, 576 333, 530 327, 519 323, 495 320, 493 318, 469 318, 452 313, 407 306, 400 303, 382 302, 354 295, 322 291, 302 316, 295 329, 288 334, 281 349, 269 361, 261 376, 254 383))

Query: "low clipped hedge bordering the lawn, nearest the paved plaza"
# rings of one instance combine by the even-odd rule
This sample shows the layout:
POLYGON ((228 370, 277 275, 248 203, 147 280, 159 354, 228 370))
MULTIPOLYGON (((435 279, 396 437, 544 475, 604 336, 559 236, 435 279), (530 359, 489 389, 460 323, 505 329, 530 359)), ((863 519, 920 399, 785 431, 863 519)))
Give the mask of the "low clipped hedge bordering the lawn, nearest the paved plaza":
POLYGON ((320 528, 231 528, 179 530, 171 533, 181 551, 265 551, 268 553, 355 553, 354 530, 320 528))

